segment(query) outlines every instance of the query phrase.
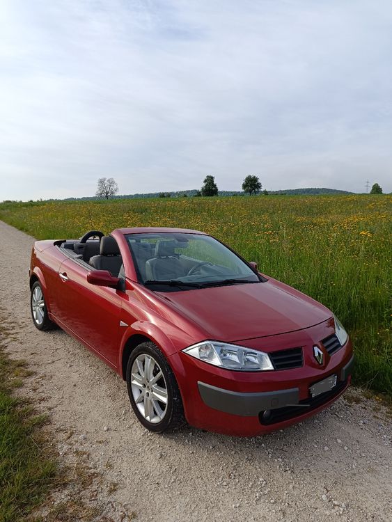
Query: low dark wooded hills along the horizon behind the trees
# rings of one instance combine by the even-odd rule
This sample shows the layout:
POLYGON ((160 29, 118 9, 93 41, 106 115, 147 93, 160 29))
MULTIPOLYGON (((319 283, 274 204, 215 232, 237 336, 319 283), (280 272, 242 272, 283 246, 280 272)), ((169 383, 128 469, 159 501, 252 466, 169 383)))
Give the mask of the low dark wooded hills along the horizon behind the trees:
MULTIPOLYGON (((165 192, 166 197, 171 198, 180 198, 183 196, 196 196, 198 191, 196 189, 191 190, 178 190, 173 192, 165 192), (170 195, 170 196, 169 196, 170 195)), ((301 196, 301 195, 330 195, 334 194, 352 194, 353 192, 347 192, 345 190, 336 190, 336 189, 287 189, 287 190, 274 190, 268 191, 272 196, 301 196)), ((162 192, 148 192, 148 193, 136 193, 136 194, 123 194, 122 196, 113 196, 111 199, 136 199, 136 198, 159 198, 162 192)), ((245 196, 243 191, 230 191, 230 190, 220 190, 218 192, 219 196, 245 196)), ((102 198, 97 198, 97 196, 87 196, 85 198, 66 198, 65 201, 75 201, 75 200, 98 200, 102 198)))

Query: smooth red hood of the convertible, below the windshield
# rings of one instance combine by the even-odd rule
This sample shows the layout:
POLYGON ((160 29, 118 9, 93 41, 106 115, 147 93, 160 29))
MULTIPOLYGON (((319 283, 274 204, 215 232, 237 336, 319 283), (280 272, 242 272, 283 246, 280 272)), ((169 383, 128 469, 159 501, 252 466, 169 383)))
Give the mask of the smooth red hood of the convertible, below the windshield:
POLYGON ((317 301, 274 279, 161 296, 198 325, 206 339, 225 342, 297 331, 332 316, 317 301))

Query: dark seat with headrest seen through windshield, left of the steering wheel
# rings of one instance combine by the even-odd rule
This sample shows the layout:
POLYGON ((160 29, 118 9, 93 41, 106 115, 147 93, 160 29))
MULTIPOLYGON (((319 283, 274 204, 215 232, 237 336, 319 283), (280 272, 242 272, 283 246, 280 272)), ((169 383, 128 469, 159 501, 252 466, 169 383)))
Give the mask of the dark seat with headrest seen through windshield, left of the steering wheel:
POLYGON ((174 248, 175 241, 160 241, 157 243, 155 258, 146 262, 147 280, 177 279, 187 274, 187 269, 182 266, 174 248))

